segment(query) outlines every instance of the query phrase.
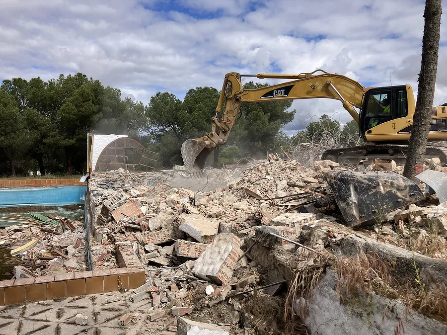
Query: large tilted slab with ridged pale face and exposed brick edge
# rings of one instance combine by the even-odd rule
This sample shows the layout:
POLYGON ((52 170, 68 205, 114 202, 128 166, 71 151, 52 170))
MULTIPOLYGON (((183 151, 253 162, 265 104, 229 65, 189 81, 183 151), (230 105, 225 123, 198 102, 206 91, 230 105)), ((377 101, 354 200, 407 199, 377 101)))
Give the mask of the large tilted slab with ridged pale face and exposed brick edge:
POLYGON ((234 234, 218 234, 195 261, 194 275, 219 285, 227 283, 242 254, 240 245, 239 238, 234 234))

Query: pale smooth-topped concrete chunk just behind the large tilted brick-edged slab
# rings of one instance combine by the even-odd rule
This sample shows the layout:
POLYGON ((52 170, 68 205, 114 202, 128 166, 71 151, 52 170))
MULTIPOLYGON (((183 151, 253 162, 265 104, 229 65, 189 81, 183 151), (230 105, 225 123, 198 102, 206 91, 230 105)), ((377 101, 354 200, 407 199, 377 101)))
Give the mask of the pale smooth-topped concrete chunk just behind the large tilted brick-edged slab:
POLYGON ((210 244, 218 233, 219 223, 210 221, 203 215, 182 215, 179 229, 200 243, 210 244))

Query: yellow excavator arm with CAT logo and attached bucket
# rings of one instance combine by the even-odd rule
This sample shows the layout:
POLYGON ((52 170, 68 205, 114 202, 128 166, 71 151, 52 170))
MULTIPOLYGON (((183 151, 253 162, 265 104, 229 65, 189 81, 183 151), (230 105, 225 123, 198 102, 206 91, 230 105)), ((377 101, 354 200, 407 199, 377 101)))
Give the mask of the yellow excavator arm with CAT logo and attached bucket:
POLYGON ((354 107, 361 107, 365 91, 363 85, 338 74, 315 70, 299 75, 240 75, 231 72, 225 75, 216 116, 212 118, 211 132, 205 136, 187 140, 182 144, 182 158, 186 168, 205 167, 213 150, 224 144, 236 121, 242 102, 266 102, 277 100, 329 98, 340 100, 343 107, 359 123, 359 114, 354 107), (317 74, 318 73, 318 74, 317 74), (241 77, 258 79, 290 79, 291 81, 255 89, 244 89, 241 77), (223 108, 223 111, 222 111, 223 108), (222 117, 218 116, 222 114, 222 117))

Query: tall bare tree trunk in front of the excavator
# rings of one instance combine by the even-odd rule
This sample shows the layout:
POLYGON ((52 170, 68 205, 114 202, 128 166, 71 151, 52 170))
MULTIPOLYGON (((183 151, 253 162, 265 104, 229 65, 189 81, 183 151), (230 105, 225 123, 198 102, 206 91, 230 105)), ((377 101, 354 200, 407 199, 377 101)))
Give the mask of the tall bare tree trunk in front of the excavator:
POLYGON ((438 52, 442 0, 426 0, 424 10, 424 36, 422 37, 422 63, 419 73, 418 98, 413 117, 408 156, 405 162, 404 176, 414 179, 422 171, 430 130, 433 96, 435 95, 436 72, 438 70, 438 52))

